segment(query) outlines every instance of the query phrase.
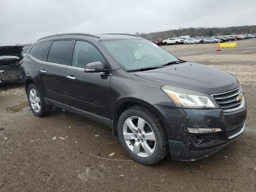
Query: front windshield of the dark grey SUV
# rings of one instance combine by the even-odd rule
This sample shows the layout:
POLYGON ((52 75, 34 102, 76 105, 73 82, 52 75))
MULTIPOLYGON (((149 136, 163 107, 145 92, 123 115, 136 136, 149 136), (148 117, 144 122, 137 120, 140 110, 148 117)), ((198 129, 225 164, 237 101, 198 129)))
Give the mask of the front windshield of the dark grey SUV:
POLYGON ((128 70, 160 67, 178 58, 145 39, 100 41, 114 58, 128 70))

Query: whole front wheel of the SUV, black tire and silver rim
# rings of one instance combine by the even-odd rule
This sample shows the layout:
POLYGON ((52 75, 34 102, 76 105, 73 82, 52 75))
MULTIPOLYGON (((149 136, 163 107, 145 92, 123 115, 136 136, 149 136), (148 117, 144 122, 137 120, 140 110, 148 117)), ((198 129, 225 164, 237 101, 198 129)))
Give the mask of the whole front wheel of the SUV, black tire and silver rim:
POLYGON ((121 114, 118 137, 126 153, 141 164, 156 164, 169 152, 162 122, 143 106, 132 106, 121 114))

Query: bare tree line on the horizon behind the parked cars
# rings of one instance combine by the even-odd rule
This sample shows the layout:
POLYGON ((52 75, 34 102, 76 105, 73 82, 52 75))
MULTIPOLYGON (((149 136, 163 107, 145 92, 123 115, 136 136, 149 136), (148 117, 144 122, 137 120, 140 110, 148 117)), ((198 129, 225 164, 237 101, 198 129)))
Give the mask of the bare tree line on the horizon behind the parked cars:
POLYGON ((232 26, 232 27, 190 27, 190 28, 179 28, 168 31, 160 31, 160 32, 151 32, 151 33, 139 33, 135 34, 145 38, 147 40, 158 40, 158 39, 166 39, 171 37, 179 37, 179 36, 213 36, 215 34, 220 35, 232 35, 232 34, 252 34, 256 33, 256 25, 251 26, 232 26))

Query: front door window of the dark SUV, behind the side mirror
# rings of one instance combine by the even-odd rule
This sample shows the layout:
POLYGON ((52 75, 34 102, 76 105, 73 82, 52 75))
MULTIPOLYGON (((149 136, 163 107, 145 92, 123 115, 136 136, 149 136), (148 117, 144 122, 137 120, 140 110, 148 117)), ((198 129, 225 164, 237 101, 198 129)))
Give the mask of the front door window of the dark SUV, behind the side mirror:
POLYGON ((90 43, 84 41, 76 41, 72 66, 78 68, 85 68, 86 64, 100 61, 104 65, 105 60, 100 52, 90 43))

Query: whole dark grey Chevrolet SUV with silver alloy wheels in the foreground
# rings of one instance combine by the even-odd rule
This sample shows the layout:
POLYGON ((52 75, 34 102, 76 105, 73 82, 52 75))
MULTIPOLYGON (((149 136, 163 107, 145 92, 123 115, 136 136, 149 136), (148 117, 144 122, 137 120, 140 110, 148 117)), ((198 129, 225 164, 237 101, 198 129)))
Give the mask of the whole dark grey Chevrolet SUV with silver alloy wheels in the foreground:
POLYGON ((142 164, 168 153, 205 158, 244 131, 246 101, 235 76, 139 36, 47 36, 30 47, 21 72, 36 116, 56 106, 110 126, 142 164))

